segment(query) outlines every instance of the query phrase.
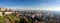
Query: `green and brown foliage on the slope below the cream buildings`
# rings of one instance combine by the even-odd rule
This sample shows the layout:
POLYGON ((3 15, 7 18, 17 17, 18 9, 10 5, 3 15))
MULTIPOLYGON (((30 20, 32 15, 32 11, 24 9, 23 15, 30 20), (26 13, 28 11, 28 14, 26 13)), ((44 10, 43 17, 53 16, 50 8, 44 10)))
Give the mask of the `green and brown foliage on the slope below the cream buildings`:
POLYGON ((9 19, 10 23, 33 23, 33 20, 30 18, 26 18, 26 17, 16 17, 14 15, 4 15, 4 16, 0 16, 0 23, 4 23, 4 18, 9 19))

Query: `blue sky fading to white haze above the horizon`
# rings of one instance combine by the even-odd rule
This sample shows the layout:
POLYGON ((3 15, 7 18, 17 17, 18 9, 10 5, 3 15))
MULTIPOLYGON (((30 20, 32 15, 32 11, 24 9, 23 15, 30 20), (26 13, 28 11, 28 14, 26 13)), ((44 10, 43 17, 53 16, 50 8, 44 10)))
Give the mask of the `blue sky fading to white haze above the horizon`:
POLYGON ((60 10, 60 0, 0 0, 0 7, 13 9, 60 10))

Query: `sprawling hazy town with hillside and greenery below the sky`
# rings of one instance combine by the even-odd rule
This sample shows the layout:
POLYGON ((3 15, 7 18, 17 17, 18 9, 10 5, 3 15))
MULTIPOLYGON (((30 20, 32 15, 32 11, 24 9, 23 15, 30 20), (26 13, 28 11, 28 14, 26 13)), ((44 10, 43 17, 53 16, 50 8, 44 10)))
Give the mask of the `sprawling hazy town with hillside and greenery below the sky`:
POLYGON ((0 23, 60 23, 60 16, 53 12, 0 8, 0 23))

